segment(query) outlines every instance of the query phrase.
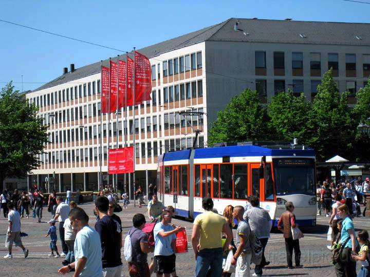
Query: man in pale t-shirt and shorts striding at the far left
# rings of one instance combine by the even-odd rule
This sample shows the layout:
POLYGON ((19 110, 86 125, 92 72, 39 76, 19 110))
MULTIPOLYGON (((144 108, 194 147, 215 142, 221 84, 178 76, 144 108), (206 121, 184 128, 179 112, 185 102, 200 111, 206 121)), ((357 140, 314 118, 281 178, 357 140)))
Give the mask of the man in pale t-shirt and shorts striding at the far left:
POLYGON ((9 259, 13 258, 13 255, 11 253, 13 243, 15 246, 19 246, 22 248, 23 253, 25 255, 25 258, 28 256, 28 249, 26 249, 21 240, 21 216, 20 214, 14 210, 14 204, 9 202, 8 204, 8 222, 9 222, 9 227, 8 227, 8 232, 7 236, 5 239, 5 246, 8 247, 9 253, 4 256, 4 259, 9 259))

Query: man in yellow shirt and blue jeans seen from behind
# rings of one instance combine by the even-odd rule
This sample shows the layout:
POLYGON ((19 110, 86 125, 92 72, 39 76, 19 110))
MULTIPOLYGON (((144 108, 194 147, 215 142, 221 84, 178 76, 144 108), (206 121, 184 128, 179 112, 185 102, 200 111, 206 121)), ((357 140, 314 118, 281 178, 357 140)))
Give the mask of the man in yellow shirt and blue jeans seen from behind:
POLYGON ((229 247, 233 234, 224 217, 212 211, 211 197, 204 197, 202 208, 205 209, 205 212, 195 217, 192 232, 196 260, 195 276, 206 276, 211 267, 211 276, 219 277, 222 274, 223 252, 229 247), (221 232, 226 234, 224 249, 221 232))

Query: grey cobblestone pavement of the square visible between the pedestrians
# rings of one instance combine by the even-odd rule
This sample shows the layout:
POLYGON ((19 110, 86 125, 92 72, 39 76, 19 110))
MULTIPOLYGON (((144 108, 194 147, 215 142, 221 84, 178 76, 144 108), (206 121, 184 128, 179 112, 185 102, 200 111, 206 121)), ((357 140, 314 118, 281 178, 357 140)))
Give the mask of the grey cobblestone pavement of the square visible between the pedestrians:
MULTIPOLYGON (((94 205, 92 203, 81 205, 90 217, 90 226, 95 225, 95 216, 93 215, 94 205)), ((123 234, 128 232, 132 226, 132 216, 134 213, 141 212, 146 215, 146 208, 134 208, 132 205, 126 210, 118 213, 122 220, 123 234)), ((1 213, 2 214, 2 213, 1 213)), ((24 259, 20 248, 13 248, 13 259, 3 259, 7 253, 4 243, 0 245, 0 268, 1 276, 60 276, 57 273, 61 267, 62 258, 48 258, 49 238, 44 235, 48 230, 47 223, 51 215, 44 209, 42 223, 37 223, 35 219, 21 219, 22 232, 27 235, 22 238, 26 248, 29 249, 29 256, 24 259)), ((173 223, 187 227, 189 252, 177 254, 176 271, 178 276, 194 276, 195 260, 191 245, 192 222, 179 219, 173 219, 173 223)), ((288 270, 286 268, 285 244, 282 233, 273 231, 266 248, 266 259, 270 265, 264 269, 264 276, 335 276, 334 267, 330 263, 330 251, 326 248, 326 232, 328 229, 328 218, 319 216, 318 225, 311 228, 302 228, 305 237, 300 240, 301 263, 304 268, 288 270)), ((370 218, 360 217, 354 220, 356 229, 370 229, 370 218)), ((57 224, 58 225, 58 224, 57 224)), ((5 242, 7 230, 7 220, 0 219, 0 241, 5 242)), ((61 251, 58 233, 58 249, 61 251)), ((123 253, 123 251, 122 251, 123 253)), ((151 255, 149 255, 149 261, 151 255)), ((122 254, 122 260, 124 260, 122 254)), ((124 261, 123 261, 124 262, 124 261)), ((358 268, 360 265, 358 264, 358 268)), ((253 271, 251 271, 253 273, 253 271)), ((154 274, 153 274, 154 275, 154 274)), ((127 266, 124 262, 122 276, 128 276, 127 266)))

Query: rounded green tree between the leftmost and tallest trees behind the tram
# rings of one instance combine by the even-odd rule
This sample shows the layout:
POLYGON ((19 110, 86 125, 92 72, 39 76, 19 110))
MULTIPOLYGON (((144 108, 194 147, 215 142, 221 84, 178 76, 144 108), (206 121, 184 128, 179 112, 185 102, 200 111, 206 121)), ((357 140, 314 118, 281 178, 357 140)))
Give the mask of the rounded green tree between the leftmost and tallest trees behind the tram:
POLYGON ((310 111, 310 103, 305 96, 294 96, 291 90, 280 92, 272 97, 267 107, 270 117, 269 129, 276 135, 275 141, 293 141, 298 138, 300 143, 306 143, 307 122, 310 111))

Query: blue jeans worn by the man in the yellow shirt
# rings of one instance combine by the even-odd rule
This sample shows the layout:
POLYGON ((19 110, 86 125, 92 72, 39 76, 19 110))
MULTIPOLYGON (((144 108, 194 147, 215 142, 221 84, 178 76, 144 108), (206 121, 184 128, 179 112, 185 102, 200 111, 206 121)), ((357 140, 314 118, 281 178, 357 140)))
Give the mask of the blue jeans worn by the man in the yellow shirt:
POLYGON ((209 267, 211 267, 210 271, 212 277, 221 276, 222 262, 223 262, 223 249, 221 247, 206 248, 200 250, 196 261, 195 276, 205 277, 207 275, 209 267))

